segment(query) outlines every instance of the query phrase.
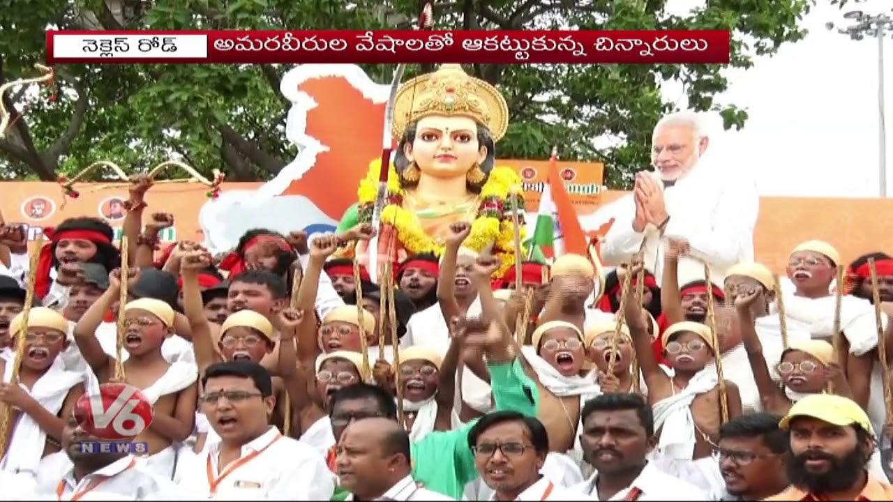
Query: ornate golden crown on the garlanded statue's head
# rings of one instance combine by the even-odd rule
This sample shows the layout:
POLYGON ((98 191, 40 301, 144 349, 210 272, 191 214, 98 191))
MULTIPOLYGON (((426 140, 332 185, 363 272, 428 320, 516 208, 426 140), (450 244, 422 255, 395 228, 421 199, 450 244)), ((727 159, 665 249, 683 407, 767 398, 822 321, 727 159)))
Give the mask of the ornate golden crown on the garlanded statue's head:
POLYGON ((508 105, 497 88, 463 71, 459 64, 441 64, 438 71, 409 80, 396 91, 394 138, 403 138, 409 124, 430 115, 458 115, 487 127, 498 141, 508 129, 508 105))

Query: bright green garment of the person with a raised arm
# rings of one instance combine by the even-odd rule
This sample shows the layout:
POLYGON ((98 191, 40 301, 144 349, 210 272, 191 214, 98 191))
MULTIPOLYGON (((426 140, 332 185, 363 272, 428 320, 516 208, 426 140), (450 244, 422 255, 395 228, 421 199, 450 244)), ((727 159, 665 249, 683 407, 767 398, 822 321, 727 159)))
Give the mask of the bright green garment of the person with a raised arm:
MULTIPOLYGON (((537 385, 524 373, 521 361, 490 363, 487 367, 497 411, 513 410, 530 416, 537 415, 537 385)), ((415 481, 426 489, 461 500, 465 485, 478 477, 472 448, 468 446, 468 432, 476 422, 466 423, 455 431, 434 431, 413 442, 415 481), (452 461, 449 457, 452 457, 452 461)), ((340 490, 335 490, 332 500, 346 499, 346 491, 340 490)))

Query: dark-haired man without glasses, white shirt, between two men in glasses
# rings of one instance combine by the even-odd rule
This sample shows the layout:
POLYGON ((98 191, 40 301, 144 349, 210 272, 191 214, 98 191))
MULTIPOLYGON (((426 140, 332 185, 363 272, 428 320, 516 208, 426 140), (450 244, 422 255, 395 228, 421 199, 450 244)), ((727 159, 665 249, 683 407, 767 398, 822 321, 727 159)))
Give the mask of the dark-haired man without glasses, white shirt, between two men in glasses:
POLYGON ((657 438, 643 397, 612 393, 590 399, 582 423, 580 445, 596 473, 571 490, 597 500, 707 500, 701 489, 646 460, 657 438))

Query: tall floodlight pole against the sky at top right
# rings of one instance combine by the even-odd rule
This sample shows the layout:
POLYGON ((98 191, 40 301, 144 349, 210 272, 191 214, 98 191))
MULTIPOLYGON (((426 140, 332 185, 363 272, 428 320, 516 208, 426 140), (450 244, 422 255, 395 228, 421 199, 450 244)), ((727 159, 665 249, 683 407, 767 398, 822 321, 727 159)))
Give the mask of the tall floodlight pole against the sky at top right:
MULTIPOLYGON (((878 39, 878 183, 880 197, 887 197, 887 119, 885 116, 884 93, 884 38, 893 30, 893 17, 889 14, 869 15, 862 11, 851 11, 843 15, 844 19, 854 21, 847 28, 838 29, 838 33, 847 35, 853 40, 862 40, 866 35, 878 39)), ((825 24, 834 29, 834 23, 825 24)))

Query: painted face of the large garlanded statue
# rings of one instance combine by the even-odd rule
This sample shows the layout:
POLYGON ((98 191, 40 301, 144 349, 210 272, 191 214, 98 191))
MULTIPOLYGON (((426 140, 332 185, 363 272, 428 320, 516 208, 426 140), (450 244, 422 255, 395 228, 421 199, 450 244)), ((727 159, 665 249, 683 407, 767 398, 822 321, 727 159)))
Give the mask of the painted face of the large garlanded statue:
POLYGON ((405 145, 404 154, 424 175, 453 178, 484 162, 487 148, 480 146, 478 124, 472 119, 435 115, 419 121, 413 143, 405 145))

